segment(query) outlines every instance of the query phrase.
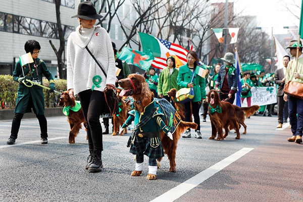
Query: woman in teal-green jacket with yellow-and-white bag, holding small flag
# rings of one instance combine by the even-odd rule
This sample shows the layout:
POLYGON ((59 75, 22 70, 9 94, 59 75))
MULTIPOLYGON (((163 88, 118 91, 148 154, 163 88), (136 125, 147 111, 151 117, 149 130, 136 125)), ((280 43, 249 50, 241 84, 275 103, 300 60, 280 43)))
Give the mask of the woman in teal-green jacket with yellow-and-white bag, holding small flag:
MULTIPOLYGON (((201 107, 201 102, 206 98, 205 75, 207 71, 206 68, 197 65, 199 59, 194 51, 189 51, 186 58, 187 63, 179 68, 177 83, 180 88, 193 87, 193 99, 184 104, 185 121, 190 122, 191 114, 193 115, 194 123, 198 125, 195 130, 195 137, 201 139, 199 109, 201 107), (190 108, 190 105, 192 108, 190 108)), ((190 129, 187 129, 182 137, 191 137, 190 129)))

